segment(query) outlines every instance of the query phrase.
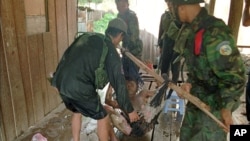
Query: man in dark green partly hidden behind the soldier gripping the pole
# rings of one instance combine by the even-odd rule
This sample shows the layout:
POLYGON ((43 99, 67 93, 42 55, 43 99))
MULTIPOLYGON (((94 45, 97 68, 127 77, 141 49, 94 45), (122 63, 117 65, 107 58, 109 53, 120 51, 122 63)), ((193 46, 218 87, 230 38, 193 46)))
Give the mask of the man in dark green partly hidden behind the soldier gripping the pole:
POLYGON ((158 46, 161 53, 159 67, 161 69, 161 74, 169 74, 171 69, 172 80, 174 83, 177 83, 180 72, 180 62, 174 62, 178 56, 178 53, 174 51, 174 45, 181 24, 174 18, 171 11, 171 2, 169 0, 165 0, 165 2, 168 5, 168 10, 161 16, 158 35, 158 46))

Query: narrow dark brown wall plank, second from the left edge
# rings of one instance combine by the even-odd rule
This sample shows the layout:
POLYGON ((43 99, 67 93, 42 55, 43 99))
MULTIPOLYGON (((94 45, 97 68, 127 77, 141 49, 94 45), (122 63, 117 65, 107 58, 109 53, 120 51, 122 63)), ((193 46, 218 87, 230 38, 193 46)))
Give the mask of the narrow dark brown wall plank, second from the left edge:
POLYGON ((35 123, 34 118, 34 107, 32 105, 32 84, 31 84, 31 76, 30 76, 30 65, 29 65, 29 52, 28 52, 28 44, 27 44, 27 36, 26 36, 26 15, 25 15, 25 3, 22 0, 12 0, 14 6, 14 18, 15 18, 15 28, 17 35, 17 48, 18 55, 20 61, 20 69, 22 74, 22 82, 24 87, 24 97, 22 107, 27 108, 27 120, 28 127, 35 123))

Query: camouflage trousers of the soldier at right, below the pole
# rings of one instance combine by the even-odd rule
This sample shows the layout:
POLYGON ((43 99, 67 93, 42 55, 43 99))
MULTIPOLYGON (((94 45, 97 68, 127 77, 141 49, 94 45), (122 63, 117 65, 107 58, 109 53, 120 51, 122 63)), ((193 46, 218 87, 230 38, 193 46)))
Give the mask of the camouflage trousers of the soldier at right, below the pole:
MULTIPOLYGON (((213 111, 221 120, 220 111, 213 111)), ((180 141, 226 141, 227 133, 200 109, 187 104, 186 113, 180 130, 180 141), (189 107, 191 106, 191 107, 189 107)))

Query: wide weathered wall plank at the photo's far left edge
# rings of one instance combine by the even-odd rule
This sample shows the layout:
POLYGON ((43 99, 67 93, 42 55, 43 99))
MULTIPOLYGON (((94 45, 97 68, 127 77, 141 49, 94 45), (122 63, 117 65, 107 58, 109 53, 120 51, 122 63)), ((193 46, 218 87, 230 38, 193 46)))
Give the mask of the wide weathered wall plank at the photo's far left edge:
MULTIPOLYGON (((2 28, 2 37, 3 37, 3 48, 5 54, 5 62, 6 62, 6 79, 8 81, 8 89, 9 89, 9 99, 8 101, 3 101, 6 105, 10 105, 7 107, 4 105, 8 111, 7 113, 12 113, 9 116, 5 117, 4 122, 6 122, 6 139, 13 140, 16 136, 20 135, 24 130, 28 128, 28 120, 27 120, 27 109, 26 109, 26 100, 25 100, 25 92, 23 85, 23 77, 21 73, 21 64, 19 59, 19 48, 18 48, 18 39, 19 34, 17 31, 19 30, 19 26, 16 27, 16 24, 22 21, 19 21, 18 16, 24 14, 24 6, 23 1, 12 1, 12 0, 1 0, 1 28, 2 28), (14 5, 17 7, 14 8, 14 5), (19 13, 20 12, 20 13, 19 13), (14 117, 12 117, 14 116, 14 117), (10 120, 10 121, 9 121, 10 120), (10 129, 11 128, 11 129, 10 129), (13 132, 14 130, 14 132, 13 132)), ((8 97, 4 97, 8 98, 8 97)), ((8 113, 8 114, 9 114, 8 113)))

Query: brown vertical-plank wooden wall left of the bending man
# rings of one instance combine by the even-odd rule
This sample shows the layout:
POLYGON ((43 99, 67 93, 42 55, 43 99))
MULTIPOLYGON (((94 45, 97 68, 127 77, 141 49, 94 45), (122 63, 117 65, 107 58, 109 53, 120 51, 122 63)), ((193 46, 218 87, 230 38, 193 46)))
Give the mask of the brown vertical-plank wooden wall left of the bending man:
POLYGON ((0 141, 15 140, 61 103, 46 78, 74 39, 77 1, 42 1, 48 31, 27 34, 27 3, 1 0, 0 141))

